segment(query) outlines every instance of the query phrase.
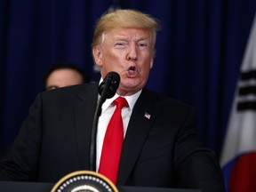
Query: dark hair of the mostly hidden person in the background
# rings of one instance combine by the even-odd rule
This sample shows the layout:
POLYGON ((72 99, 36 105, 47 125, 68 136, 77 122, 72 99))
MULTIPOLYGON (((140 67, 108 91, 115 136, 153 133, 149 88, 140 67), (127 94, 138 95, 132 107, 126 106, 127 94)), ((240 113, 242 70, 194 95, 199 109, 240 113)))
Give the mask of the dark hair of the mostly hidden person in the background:
POLYGON ((57 69, 61 69, 61 68, 70 68, 70 69, 76 70, 83 77, 83 84, 89 83, 91 81, 90 76, 88 76, 84 72, 84 70, 82 70, 81 68, 78 68, 75 63, 72 63, 72 62, 57 62, 57 63, 54 63, 51 66, 51 68, 49 68, 48 71, 46 72, 46 74, 44 76, 44 86, 47 83, 47 79, 52 74, 52 72, 57 70, 57 69))

